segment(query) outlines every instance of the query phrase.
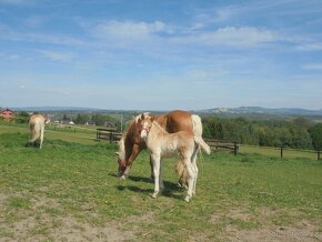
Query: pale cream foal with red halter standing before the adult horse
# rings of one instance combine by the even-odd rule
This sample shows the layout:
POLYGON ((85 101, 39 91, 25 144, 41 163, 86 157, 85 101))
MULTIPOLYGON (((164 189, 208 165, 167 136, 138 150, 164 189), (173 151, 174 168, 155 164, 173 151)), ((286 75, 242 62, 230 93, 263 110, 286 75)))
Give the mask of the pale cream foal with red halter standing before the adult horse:
MULTIPOLYGON (((198 115, 193 115, 198 119, 198 115)), ((197 152, 199 147, 208 154, 210 147, 202 140, 201 137, 187 131, 179 131, 175 133, 168 133, 153 117, 141 115, 140 137, 145 141, 147 148, 151 153, 154 174, 154 193, 152 198, 157 198, 160 189, 163 189, 163 181, 161 174, 161 159, 169 154, 179 154, 180 161, 189 174, 188 177, 188 193, 185 201, 189 202, 191 196, 195 194, 195 185, 198 178, 197 152)), ((199 118, 200 119, 200 118, 199 118)), ((194 124, 194 122, 192 122, 194 124)))

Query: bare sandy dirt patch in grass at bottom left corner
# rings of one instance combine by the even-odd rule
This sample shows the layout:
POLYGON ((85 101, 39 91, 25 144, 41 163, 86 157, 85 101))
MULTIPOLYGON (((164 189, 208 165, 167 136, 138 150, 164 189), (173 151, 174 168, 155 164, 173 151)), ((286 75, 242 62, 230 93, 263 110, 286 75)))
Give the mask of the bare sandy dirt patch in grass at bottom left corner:
POLYGON ((0 231, 6 231, 8 234, 1 238, 3 241, 128 241, 134 239, 133 232, 123 231, 117 222, 98 226, 80 222, 71 216, 42 215, 38 220, 29 216, 8 226, 1 224, 0 231))

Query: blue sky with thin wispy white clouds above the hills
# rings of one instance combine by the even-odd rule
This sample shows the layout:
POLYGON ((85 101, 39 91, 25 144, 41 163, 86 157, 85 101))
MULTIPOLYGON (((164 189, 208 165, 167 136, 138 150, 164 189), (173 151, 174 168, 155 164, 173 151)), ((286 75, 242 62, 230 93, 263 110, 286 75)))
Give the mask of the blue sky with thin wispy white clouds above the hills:
POLYGON ((322 109, 321 0, 0 0, 0 107, 322 109))

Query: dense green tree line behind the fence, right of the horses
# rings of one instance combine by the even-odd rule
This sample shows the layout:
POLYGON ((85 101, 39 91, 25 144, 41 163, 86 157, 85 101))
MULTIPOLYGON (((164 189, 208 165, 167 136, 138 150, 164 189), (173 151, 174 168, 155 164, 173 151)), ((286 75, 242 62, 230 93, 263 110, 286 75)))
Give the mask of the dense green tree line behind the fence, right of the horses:
POLYGON ((322 150, 322 123, 312 124, 304 118, 292 121, 204 118, 203 134, 243 144, 322 150))

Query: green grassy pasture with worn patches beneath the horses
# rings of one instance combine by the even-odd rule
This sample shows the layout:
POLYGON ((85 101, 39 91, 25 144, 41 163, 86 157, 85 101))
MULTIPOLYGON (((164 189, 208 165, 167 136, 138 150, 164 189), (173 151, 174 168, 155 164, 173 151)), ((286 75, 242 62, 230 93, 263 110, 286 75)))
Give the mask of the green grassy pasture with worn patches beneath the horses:
MULTIPOLYGON (((242 152, 203 154, 197 196, 183 201, 174 159, 150 198, 149 155, 115 177, 115 144, 0 125, 0 241, 321 241, 322 161, 242 152)), ((94 137, 94 135, 92 135, 94 137)))

